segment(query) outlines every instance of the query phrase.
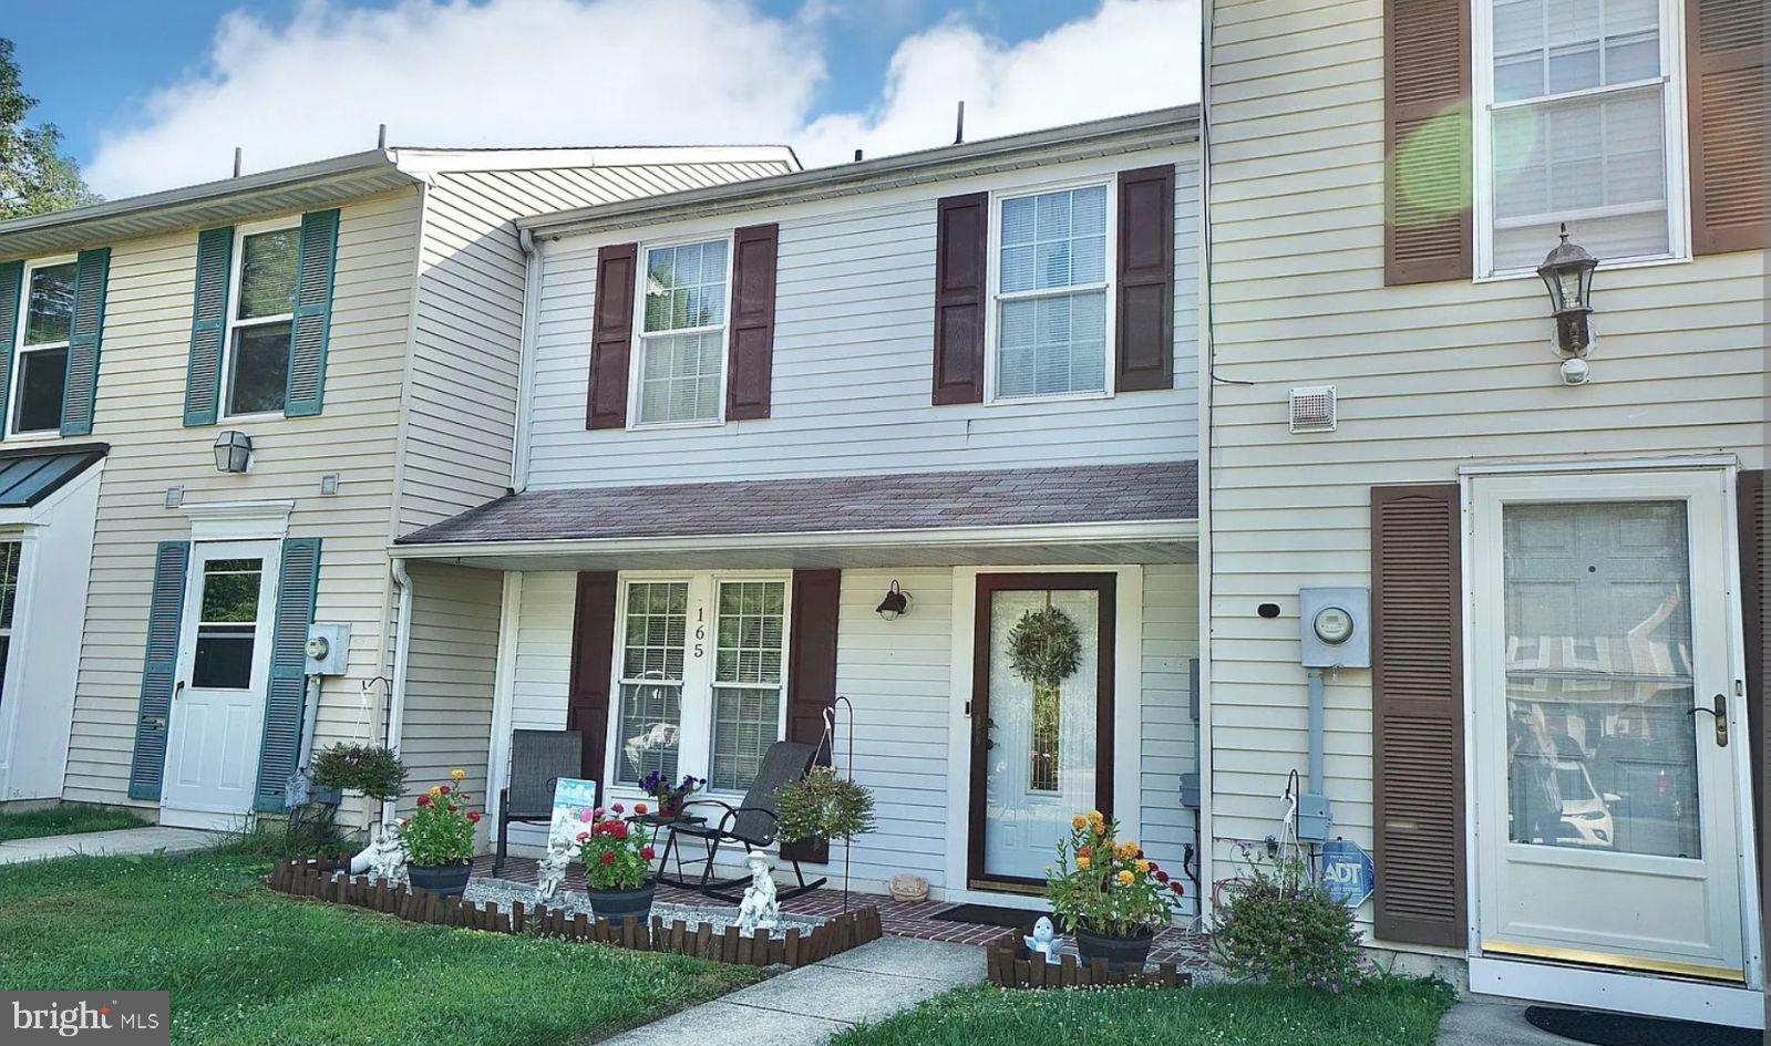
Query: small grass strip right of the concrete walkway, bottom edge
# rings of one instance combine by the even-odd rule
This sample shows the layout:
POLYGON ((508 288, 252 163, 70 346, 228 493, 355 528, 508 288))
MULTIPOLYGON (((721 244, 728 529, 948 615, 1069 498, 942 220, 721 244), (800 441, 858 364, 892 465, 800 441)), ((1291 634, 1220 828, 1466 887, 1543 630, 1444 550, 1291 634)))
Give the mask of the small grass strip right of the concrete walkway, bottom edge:
POLYGON ((1344 995, 1215 984, 1006 991, 960 988, 831 1046, 1427 1046, 1450 1009, 1438 981, 1387 979, 1344 995))

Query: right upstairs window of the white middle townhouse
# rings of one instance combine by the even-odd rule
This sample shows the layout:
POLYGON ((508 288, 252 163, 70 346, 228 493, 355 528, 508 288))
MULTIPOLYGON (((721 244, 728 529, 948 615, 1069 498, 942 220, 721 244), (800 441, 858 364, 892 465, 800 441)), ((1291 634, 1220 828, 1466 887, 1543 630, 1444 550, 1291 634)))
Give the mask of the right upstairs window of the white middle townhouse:
POLYGON ((1001 200, 994 398, 1107 391, 1107 207, 1105 184, 1001 200))

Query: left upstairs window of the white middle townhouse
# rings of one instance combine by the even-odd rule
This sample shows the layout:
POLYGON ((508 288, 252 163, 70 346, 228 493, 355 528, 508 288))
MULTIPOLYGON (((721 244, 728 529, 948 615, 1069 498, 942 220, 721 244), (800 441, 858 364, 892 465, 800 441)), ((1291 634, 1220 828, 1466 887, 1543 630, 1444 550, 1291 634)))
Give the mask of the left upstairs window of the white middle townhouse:
POLYGON ((719 421, 731 242, 645 250, 636 425, 719 421))

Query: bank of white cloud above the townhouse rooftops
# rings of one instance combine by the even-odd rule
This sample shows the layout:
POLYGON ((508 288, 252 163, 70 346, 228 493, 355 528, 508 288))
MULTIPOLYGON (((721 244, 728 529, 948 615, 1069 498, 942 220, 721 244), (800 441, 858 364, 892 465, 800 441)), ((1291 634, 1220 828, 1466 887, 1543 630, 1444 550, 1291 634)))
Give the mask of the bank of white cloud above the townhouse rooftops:
MULTIPOLYGON (((356 152, 375 124, 407 145, 786 142, 808 165, 1006 135, 1197 96, 1197 0, 1105 0, 1004 42, 963 16, 905 37, 878 101, 816 113, 838 32, 808 0, 774 18, 747 0, 310 0, 287 25, 236 11, 205 69, 156 90, 99 142, 87 179, 126 196, 356 152)), ((839 27, 839 28, 838 28, 839 27)))

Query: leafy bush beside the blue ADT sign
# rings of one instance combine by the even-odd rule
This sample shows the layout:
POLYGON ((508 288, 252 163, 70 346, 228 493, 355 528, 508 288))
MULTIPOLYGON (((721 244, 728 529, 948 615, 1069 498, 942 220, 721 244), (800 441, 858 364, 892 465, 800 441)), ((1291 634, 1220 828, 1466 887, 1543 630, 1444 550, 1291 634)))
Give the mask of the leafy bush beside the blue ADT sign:
POLYGON ((1371 973, 1353 910, 1328 896, 1303 857, 1250 858, 1250 874, 1226 885, 1211 950, 1226 973, 1282 988, 1334 993, 1371 973))

